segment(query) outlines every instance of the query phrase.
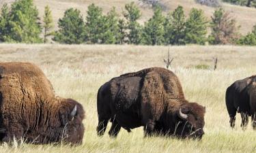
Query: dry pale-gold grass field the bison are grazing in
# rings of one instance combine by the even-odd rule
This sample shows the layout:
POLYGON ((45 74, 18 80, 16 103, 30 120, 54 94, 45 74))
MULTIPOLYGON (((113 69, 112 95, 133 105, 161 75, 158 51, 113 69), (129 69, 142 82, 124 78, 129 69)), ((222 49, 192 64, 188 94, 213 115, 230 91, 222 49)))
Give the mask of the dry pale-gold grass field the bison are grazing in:
POLYGON ((121 130, 117 139, 107 131, 97 137, 96 93, 111 78, 146 67, 165 67, 167 46, 108 45, 22 45, 0 44, 0 61, 23 61, 37 64, 53 84, 56 95, 70 97, 86 110, 83 144, 64 145, 2 144, 0 152, 255 152, 256 131, 251 122, 246 131, 229 127, 225 90, 235 80, 256 74, 256 48, 240 46, 172 46, 174 71, 188 101, 206 107, 205 135, 201 141, 167 137, 143 138, 143 129, 132 133, 121 130), (212 57, 218 57, 212 70, 212 57), (204 67, 201 69, 201 67, 204 67))

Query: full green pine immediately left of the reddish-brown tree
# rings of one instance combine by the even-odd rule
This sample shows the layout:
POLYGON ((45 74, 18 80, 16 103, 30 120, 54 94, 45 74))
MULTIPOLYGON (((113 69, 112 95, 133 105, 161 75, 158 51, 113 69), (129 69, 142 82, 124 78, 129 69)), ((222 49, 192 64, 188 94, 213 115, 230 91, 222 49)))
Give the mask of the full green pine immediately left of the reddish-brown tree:
POLYGON ((185 23, 185 42, 186 44, 204 45, 207 33, 207 19, 203 16, 202 10, 193 8, 189 18, 185 23))

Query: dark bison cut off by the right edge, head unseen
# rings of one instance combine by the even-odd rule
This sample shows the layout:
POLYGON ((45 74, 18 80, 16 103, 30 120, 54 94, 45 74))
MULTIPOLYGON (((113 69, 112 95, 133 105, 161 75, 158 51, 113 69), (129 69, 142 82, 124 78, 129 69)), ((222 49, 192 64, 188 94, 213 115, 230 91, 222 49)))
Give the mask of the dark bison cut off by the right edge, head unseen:
POLYGON ((253 129, 256 129, 256 75, 231 84, 226 90, 226 105, 232 128, 238 112, 242 117, 242 129, 246 129, 248 116, 252 116, 253 129))

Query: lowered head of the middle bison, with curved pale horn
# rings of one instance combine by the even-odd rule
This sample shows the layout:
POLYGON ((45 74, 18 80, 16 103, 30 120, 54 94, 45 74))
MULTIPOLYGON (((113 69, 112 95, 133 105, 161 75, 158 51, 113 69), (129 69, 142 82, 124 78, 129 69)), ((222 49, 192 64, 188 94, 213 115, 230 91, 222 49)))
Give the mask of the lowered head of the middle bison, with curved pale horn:
POLYGON ((197 103, 186 103, 176 112, 175 135, 179 137, 199 138, 203 136, 205 107, 197 103))

